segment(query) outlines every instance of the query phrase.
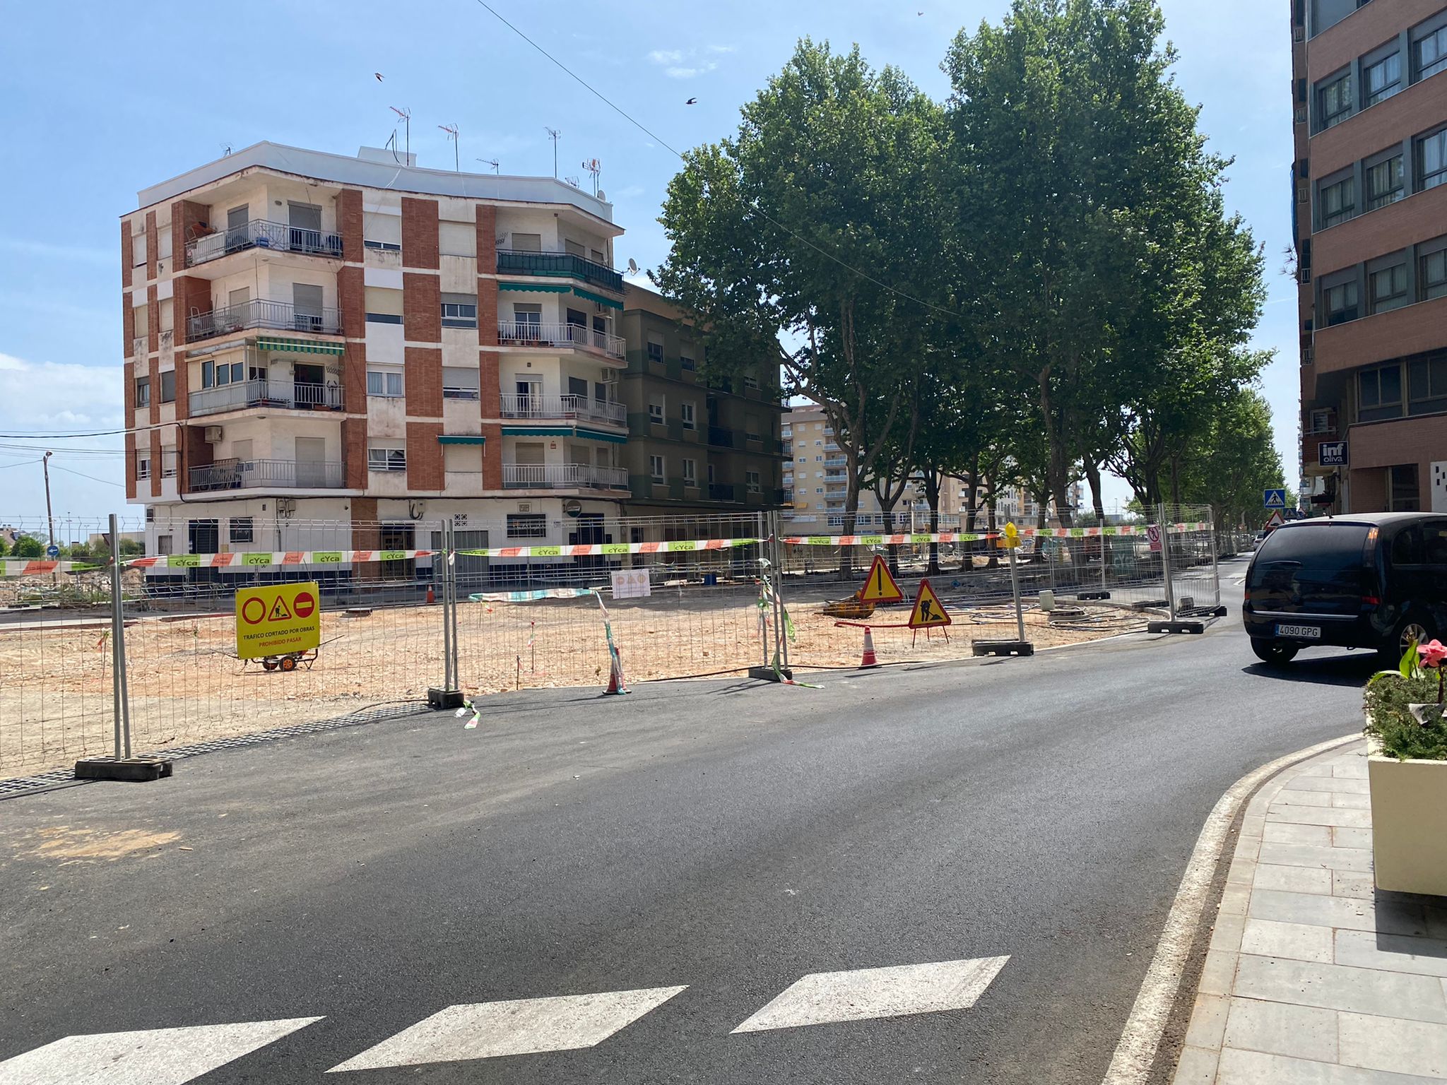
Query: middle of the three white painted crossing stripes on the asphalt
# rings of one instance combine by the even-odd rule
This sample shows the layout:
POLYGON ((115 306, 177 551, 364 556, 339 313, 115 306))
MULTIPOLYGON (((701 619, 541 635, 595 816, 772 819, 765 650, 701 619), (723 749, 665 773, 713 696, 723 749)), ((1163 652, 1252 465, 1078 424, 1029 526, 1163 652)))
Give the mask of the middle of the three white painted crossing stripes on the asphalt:
POLYGON ((592 1047, 686 990, 653 987, 449 1005, 327 1073, 592 1047))

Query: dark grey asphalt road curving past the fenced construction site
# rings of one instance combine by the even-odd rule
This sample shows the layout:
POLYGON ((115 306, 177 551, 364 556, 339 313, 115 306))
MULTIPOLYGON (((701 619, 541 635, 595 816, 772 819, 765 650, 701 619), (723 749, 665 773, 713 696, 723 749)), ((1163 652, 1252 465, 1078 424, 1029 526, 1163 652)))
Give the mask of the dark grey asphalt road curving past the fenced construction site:
POLYGON ((77 1033, 297 1017, 195 1081, 1098 1082, 1211 806, 1357 729, 1372 670, 1269 671, 1233 608, 820 689, 504 696, 476 731, 3 801, 0 1082, 77 1033), (806 974, 996 956, 972 1008, 731 1034, 806 974), (323 1076, 450 1005, 682 985, 595 1047, 323 1076))

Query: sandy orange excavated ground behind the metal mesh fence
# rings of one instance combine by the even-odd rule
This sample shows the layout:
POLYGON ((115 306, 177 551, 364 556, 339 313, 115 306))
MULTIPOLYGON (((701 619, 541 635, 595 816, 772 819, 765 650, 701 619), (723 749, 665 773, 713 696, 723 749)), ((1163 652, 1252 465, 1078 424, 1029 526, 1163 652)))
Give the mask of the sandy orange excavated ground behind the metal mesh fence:
MULTIPOLYGON (((860 663, 864 632, 836 628, 820 608, 825 586, 789 599, 796 667, 846 668, 860 663)), ((838 586, 832 595, 845 595, 838 586)), ((628 681, 734 673, 764 663, 758 592, 748 584, 657 587, 648 599, 606 602, 628 681)), ((949 596, 945 596, 951 606, 949 596)), ((903 624, 909 605, 880 608, 871 622, 903 624)), ((94 621, 94 610, 75 619, 94 621)), ((1006 608, 955 606, 946 641, 909 629, 874 631, 881 663, 952 660, 971 641, 1013 639, 1006 608), (913 644, 912 644, 913 639, 913 644)), ((1037 647, 1074 644, 1140 628, 1137 616, 1090 608, 1079 628, 1052 628, 1026 613, 1037 647)), ((443 683, 440 606, 388 606, 366 613, 323 613, 314 664, 266 673, 234 651, 230 616, 140 616, 127 622, 126 652, 136 752, 331 719, 375 705, 418 702, 443 683)), ((770 631, 768 651, 773 652, 770 631)), ((608 681, 603 613, 595 597, 459 606, 460 684, 470 696, 540 686, 608 681)), ((807 671, 805 671, 807 674, 807 671)), ((486 710, 483 703, 483 710, 486 710)), ((0 777, 109 754, 113 744, 109 628, 0 625, 0 777)))

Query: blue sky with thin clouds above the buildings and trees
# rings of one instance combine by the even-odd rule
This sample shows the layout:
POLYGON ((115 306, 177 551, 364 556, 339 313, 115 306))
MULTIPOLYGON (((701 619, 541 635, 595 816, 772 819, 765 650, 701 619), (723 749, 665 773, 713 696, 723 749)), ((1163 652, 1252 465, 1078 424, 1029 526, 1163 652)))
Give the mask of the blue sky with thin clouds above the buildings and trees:
MULTIPOLYGON (((1007 0, 489 0, 535 41, 673 146, 715 140, 810 35, 858 42, 928 93, 961 26, 996 20, 1007 0), (696 106, 684 100, 697 97, 696 106)), ((1286 12, 1263 0, 1165 0, 1176 77, 1202 109, 1213 148, 1234 156, 1227 203, 1266 244, 1270 299, 1257 346, 1276 443, 1295 475, 1294 288, 1278 273, 1289 243, 1292 158, 1286 12)), ((655 221, 673 158, 519 41, 476 0, 259 1, 246 9, 149 0, 14 4, 0 38, 6 165, 0 171, 0 433, 120 424, 119 216, 136 190, 262 139, 355 153, 412 111, 412 150, 447 168, 457 124, 463 169, 551 174, 602 161, 601 185, 628 231, 616 255, 648 268, 666 255, 655 221), (379 82, 373 72, 381 72, 379 82)), ((586 176, 583 178, 586 182, 586 176)), ((0 446, 17 444, 0 438, 0 446)), ((43 443, 42 443, 43 444, 43 443)), ((116 438, 46 447, 117 448, 116 438)), ((0 447, 0 524, 45 511, 38 453, 0 447)), ((58 454, 56 514, 124 512, 120 459, 58 454), (93 477, 82 477, 93 476, 93 477)), ((1116 483, 1111 501, 1129 499, 1116 483)))

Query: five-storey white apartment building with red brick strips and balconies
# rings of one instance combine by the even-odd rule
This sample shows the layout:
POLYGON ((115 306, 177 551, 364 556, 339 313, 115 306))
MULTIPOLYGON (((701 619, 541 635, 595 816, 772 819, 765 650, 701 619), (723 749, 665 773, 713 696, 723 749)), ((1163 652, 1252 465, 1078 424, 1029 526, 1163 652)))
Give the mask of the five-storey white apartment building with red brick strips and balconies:
POLYGON ((441 518, 595 541, 632 496, 621 233, 553 178, 368 148, 258 143, 139 192, 126 489, 148 551, 308 548, 315 521, 356 525, 327 548, 425 548, 414 525, 441 518), (297 527, 256 537, 276 519, 297 527))

